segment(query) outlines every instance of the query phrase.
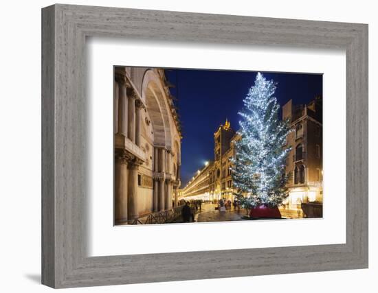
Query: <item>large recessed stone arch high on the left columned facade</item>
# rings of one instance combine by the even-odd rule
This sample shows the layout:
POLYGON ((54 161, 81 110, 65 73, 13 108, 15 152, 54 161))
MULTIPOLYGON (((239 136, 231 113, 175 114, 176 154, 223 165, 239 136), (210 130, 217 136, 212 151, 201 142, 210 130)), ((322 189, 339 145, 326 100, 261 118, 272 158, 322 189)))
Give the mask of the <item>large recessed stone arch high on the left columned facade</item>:
POLYGON ((172 148, 172 135, 167 97, 162 82, 153 69, 148 69, 144 73, 142 99, 146 103, 148 114, 151 117, 154 145, 170 150, 172 148))

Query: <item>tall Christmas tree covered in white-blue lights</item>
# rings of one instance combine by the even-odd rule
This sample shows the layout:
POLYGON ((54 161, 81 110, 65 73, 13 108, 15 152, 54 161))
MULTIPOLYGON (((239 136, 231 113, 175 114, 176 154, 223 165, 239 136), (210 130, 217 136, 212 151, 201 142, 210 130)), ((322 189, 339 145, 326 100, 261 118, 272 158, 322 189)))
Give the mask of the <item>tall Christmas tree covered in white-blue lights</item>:
MULTIPOLYGON (((235 142, 232 179, 236 196, 249 209, 276 209, 288 196, 285 148, 289 121, 278 119, 280 105, 274 97, 276 83, 256 75, 254 86, 238 114, 241 139, 235 142)), ((279 213, 279 211, 278 211, 279 213)))

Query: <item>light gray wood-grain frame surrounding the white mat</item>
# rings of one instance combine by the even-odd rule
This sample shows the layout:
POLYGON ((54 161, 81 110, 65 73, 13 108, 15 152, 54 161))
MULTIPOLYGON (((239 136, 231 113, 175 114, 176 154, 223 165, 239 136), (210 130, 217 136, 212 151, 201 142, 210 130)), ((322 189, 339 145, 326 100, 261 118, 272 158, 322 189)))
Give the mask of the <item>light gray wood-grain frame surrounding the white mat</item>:
POLYGON ((69 288, 357 268, 368 268, 368 25, 60 4, 43 8, 43 284, 69 288), (87 36, 345 49, 346 244, 87 257, 87 36))

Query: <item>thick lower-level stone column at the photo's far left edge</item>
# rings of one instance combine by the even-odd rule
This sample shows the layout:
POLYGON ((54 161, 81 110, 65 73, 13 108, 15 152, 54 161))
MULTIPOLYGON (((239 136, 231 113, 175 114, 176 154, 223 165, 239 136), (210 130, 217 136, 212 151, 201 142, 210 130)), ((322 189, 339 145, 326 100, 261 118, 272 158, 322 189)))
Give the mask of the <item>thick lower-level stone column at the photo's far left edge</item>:
POLYGON ((115 158, 114 169, 114 201, 115 224, 127 221, 127 161, 115 158))

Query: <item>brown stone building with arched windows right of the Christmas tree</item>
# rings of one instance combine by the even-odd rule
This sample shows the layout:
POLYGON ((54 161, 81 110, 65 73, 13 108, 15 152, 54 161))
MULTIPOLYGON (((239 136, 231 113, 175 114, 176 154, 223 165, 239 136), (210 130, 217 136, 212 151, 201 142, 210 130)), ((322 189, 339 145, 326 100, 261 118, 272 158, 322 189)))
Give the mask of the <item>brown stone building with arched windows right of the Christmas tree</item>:
POLYGON ((289 119, 293 129, 287 136, 291 152, 286 172, 291 172, 292 176, 287 184, 289 197, 285 203, 295 208, 299 202, 322 202, 322 99, 317 97, 307 105, 293 105, 290 99, 282 107, 282 119, 289 119))

